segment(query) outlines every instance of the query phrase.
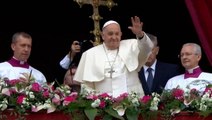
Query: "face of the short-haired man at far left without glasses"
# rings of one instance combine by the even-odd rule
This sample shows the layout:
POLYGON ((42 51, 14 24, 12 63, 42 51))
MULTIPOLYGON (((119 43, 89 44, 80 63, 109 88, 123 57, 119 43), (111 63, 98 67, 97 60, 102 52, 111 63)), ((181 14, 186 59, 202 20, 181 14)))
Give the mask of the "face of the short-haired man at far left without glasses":
POLYGON ((14 53, 14 57, 20 61, 27 61, 32 47, 31 37, 25 37, 23 35, 16 36, 11 44, 11 48, 14 53))

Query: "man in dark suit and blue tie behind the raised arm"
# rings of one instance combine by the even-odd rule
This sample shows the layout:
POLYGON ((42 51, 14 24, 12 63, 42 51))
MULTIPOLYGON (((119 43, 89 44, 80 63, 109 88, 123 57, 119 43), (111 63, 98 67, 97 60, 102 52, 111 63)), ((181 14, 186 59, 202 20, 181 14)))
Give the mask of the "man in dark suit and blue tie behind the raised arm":
POLYGON ((139 72, 139 78, 145 95, 151 95, 153 92, 161 94, 167 81, 179 75, 180 69, 177 64, 166 63, 157 59, 160 49, 157 36, 149 33, 147 35, 153 42, 154 47, 146 64, 139 72))

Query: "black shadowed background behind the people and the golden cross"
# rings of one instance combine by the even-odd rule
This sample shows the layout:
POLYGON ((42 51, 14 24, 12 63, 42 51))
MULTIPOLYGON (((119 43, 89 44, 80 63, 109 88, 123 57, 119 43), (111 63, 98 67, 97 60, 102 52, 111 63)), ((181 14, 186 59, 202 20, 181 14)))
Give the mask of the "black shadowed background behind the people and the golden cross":
MULTIPOLYGON (((182 44, 200 44, 184 0, 114 0, 118 3, 109 11, 99 7, 103 17, 100 26, 113 19, 120 23, 123 39, 135 36, 127 28, 130 17, 139 16, 144 22, 145 32, 158 37, 160 52, 158 59, 180 64, 178 54, 182 44)), ((12 51, 12 35, 18 31, 28 32, 33 38, 29 63, 39 69, 47 80, 57 79, 62 83, 65 70, 59 66, 67 54, 71 40, 90 40, 93 35, 93 13, 91 5, 82 8, 73 0, 19 0, 0 1, 0 62, 8 60, 12 51)), ((211 72, 209 62, 203 51, 200 65, 204 71, 211 72)))

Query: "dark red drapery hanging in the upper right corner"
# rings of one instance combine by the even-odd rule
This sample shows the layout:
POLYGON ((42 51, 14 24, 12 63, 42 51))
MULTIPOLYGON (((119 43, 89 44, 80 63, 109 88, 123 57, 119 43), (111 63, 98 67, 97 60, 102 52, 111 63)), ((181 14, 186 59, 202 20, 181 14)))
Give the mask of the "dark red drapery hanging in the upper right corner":
POLYGON ((212 65, 212 0, 185 0, 203 50, 212 65))

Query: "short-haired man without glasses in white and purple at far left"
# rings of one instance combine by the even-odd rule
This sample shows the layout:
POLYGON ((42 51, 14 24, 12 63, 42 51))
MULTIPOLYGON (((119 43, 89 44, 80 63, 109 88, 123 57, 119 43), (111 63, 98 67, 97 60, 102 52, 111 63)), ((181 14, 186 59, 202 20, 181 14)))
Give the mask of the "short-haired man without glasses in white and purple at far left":
POLYGON ((17 32, 12 37, 13 57, 0 63, 0 79, 19 79, 23 82, 35 80, 40 85, 46 83, 45 76, 27 63, 31 53, 32 37, 25 32, 17 32))

